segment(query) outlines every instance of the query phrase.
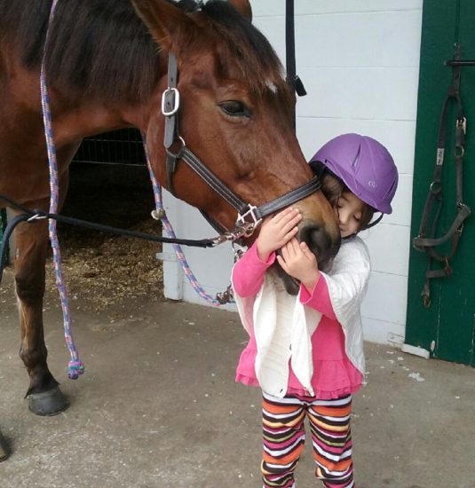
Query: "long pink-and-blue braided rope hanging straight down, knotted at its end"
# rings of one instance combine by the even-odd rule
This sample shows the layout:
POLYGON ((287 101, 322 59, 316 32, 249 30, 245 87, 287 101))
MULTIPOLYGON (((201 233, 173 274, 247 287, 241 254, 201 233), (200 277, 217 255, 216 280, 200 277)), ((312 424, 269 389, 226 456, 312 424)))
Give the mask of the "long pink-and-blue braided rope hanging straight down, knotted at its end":
MULTIPOLYGON (((48 35, 51 27, 51 22, 54 17, 57 0, 53 0, 51 5, 50 19, 48 21, 48 33, 44 41, 44 51, 48 43, 48 35)), ((48 96, 48 85, 46 83, 46 75, 44 70, 44 59, 41 67, 40 76, 40 90, 41 90, 41 105, 43 108, 43 122, 44 122, 44 137, 46 138, 46 149, 48 152, 48 162, 50 169, 50 214, 56 214, 58 210, 59 201, 59 182, 58 182, 58 164, 56 160, 56 148, 54 146, 52 127, 51 127, 51 110, 50 99, 48 96)), ((69 315, 69 302, 67 300, 67 288, 65 285, 63 273, 61 270, 61 250, 59 248, 58 232, 56 230, 56 221, 49 219, 48 232, 50 235, 51 248, 53 254, 54 272, 56 275, 56 287, 59 292, 59 299, 61 302, 61 309, 63 312, 64 336, 67 343, 67 348, 71 356, 71 360, 67 365, 67 376, 72 380, 78 378, 84 372, 83 361, 79 359, 79 355, 75 348, 75 341, 71 332, 71 317, 69 315)))

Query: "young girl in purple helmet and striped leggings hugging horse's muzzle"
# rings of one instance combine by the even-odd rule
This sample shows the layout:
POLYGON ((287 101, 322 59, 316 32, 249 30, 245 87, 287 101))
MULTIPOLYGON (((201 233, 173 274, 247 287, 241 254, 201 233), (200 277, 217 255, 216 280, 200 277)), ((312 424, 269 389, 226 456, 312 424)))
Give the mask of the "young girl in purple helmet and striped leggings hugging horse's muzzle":
POLYGON ((331 272, 319 271, 318 256, 297 241, 297 209, 266 219, 233 270, 249 333, 236 381, 263 390, 265 488, 295 486, 305 416, 317 478, 327 488, 354 486, 350 415, 364 374, 360 304, 370 272, 368 249, 356 234, 372 225, 376 210, 392 212, 398 184, 391 154, 358 134, 330 140, 311 165, 340 224, 342 245, 331 272), (273 264, 300 282, 297 296, 285 291, 273 264))

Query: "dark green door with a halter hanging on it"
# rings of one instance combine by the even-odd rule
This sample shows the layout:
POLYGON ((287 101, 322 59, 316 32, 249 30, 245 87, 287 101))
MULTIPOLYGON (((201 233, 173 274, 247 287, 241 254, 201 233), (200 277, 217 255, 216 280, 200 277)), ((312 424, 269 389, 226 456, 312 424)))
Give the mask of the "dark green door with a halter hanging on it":
MULTIPOLYGON (((462 59, 475 59, 475 2, 424 0, 421 71, 416 124, 411 236, 417 235, 436 159, 442 103, 452 78, 444 61, 454 58, 455 43, 462 59)), ((463 158, 463 197, 472 209, 452 261, 453 274, 431 279, 431 306, 424 307, 421 290, 427 256, 411 249, 408 282, 406 342, 431 350, 433 357, 475 366, 475 67, 462 68, 461 94, 467 118, 463 158)), ((437 236, 447 232, 455 218, 453 157, 455 104, 449 113, 447 150, 442 171, 444 204, 437 236)), ((449 250, 449 245, 441 247, 449 250)), ((435 266, 439 267, 439 266, 435 266)))

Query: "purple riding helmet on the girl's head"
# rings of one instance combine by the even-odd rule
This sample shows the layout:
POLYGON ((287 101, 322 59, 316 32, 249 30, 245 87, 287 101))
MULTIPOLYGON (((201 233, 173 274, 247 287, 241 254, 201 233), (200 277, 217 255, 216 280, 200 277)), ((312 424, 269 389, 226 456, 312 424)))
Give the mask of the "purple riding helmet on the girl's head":
POLYGON ((322 146, 310 164, 315 161, 341 178, 360 200, 384 214, 392 213, 398 169, 392 155, 375 139, 343 134, 322 146))

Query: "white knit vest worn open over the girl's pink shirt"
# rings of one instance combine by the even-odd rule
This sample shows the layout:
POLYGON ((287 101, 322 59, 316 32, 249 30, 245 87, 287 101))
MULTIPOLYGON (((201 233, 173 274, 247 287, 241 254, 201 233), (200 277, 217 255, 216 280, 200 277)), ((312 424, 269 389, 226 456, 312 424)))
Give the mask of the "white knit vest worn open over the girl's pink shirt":
MULTIPOLYGON (((364 374, 363 329, 360 305, 368 287, 368 248, 359 237, 344 240, 329 274, 321 272, 329 288, 336 319, 343 327, 345 351, 364 374)), ((289 295, 273 272, 266 272, 256 296, 234 298, 243 326, 254 329, 257 343, 256 376, 261 388, 274 397, 284 397, 289 382, 289 359, 305 390, 313 395, 312 335, 321 312, 289 295)))

